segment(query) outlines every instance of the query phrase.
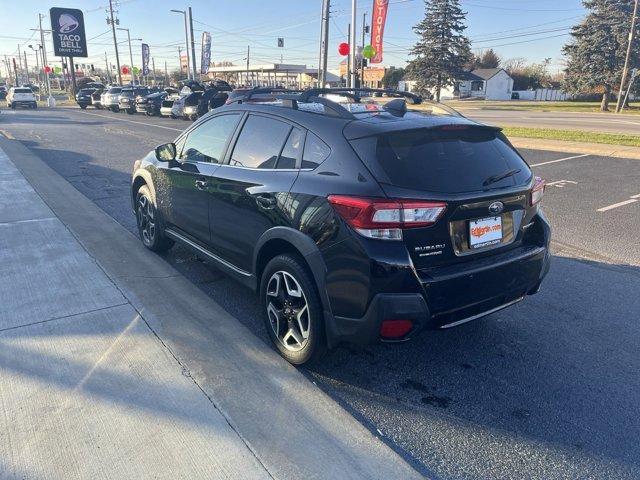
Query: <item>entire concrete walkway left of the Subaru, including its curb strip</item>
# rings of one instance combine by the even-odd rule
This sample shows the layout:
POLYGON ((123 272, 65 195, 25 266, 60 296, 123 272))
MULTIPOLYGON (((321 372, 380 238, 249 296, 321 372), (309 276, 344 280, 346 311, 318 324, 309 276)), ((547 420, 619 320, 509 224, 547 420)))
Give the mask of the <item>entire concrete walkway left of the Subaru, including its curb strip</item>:
POLYGON ((0 272, 0 478, 422 477, 5 138, 0 272))

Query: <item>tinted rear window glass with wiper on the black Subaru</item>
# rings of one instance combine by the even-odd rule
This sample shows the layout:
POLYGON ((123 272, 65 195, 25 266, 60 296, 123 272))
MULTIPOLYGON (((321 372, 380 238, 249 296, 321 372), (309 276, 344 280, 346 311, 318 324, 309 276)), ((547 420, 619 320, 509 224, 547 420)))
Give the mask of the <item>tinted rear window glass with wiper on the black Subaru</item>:
POLYGON ((525 161, 493 129, 410 130, 352 144, 378 181, 404 188, 465 193, 521 185, 531 177, 525 161), (512 174, 495 180, 507 172, 512 174))

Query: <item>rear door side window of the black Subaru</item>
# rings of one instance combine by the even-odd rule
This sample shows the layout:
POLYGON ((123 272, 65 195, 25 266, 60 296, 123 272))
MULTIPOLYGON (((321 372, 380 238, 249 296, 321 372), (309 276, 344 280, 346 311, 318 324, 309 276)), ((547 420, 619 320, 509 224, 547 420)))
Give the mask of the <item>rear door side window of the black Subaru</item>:
POLYGON ((229 165, 275 168, 291 126, 273 118, 249 115, 238 137, 229 165))

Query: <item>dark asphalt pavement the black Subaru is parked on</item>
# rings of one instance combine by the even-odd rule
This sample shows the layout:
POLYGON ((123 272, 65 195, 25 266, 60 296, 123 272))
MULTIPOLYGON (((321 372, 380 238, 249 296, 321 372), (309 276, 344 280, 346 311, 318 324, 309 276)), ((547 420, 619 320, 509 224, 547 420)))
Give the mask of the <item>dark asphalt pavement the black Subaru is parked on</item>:
MULTIPOLYGON (((132 233, 134 159, 187 126, 93 110, 0 115, 0 130, 132 233)), ((523 154, 550 182, 556 254, 542 291, 408 344, 338 348, 306 373, 435 478, 639 478, 640 160, 523 154)), ((249 291, 181 248, 165 258, 268 341, 249 291)))

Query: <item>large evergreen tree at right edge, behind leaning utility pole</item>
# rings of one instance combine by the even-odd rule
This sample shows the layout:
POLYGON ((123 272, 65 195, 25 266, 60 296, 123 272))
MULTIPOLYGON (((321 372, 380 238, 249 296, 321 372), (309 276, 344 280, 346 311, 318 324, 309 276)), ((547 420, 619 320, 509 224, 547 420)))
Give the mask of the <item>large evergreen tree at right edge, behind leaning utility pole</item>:
MULTIPOLYGON (((573 27, 565 45, 564 88, 570 93, 602 91, 600 109, 609 109, 611 93, 620 85, 635 0, 583 0, 587 17, 573 27)), ((631 56, 631 68, 640 66, 640 25, 631 56)))

